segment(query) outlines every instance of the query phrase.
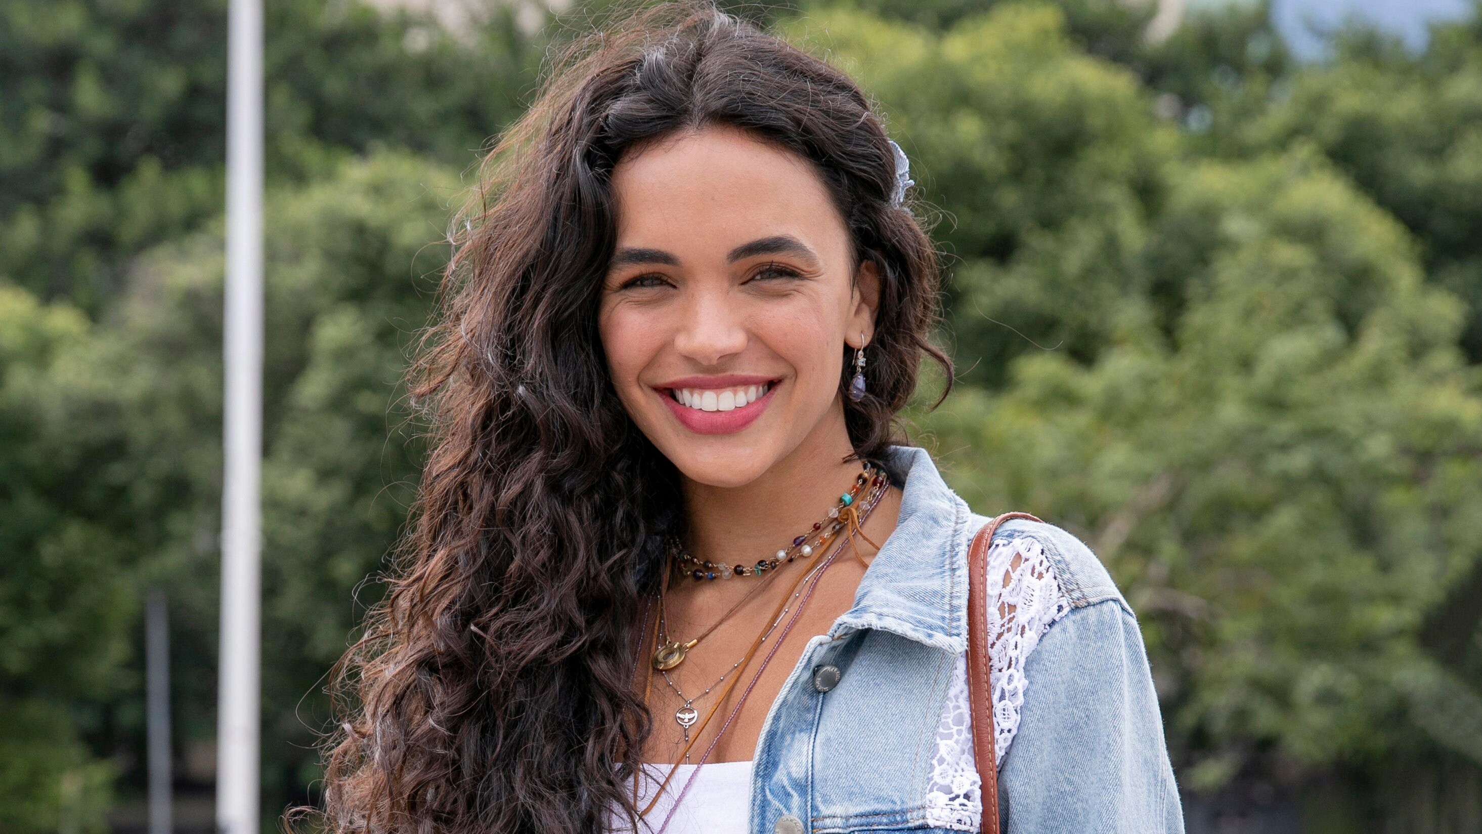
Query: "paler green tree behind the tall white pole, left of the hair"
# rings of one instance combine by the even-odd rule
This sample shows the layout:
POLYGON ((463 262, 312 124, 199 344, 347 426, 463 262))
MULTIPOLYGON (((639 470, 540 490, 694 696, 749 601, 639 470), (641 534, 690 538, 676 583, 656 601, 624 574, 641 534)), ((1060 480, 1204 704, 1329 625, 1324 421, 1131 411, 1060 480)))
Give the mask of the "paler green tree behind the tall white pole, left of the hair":
MULTIPOLYGON (((405 350, 425 324, 453 172, 378 153, 267 200, 264 423, 264 779, 270 810, 305 798, 322 677, 359 622, 354 589, 406 519, 419 441, 400 402, 405 350)), ((221 220, 139 257, 87 346, 114 380, 138 490, 187 484, 138 512, 145 568, 172 595, 176 708, 213 736, 221 466, 221 220)), ((172 490, 159 490, 162 494, 172 490)), ((373 588, 365 602, 373 602, 373 588)), ((138 697, 138 692, 127 693, 138 697)), ((116 703, 126 703, 120 699, 116 703)), ((124 727, 138 733, 141 727, 124 727)))

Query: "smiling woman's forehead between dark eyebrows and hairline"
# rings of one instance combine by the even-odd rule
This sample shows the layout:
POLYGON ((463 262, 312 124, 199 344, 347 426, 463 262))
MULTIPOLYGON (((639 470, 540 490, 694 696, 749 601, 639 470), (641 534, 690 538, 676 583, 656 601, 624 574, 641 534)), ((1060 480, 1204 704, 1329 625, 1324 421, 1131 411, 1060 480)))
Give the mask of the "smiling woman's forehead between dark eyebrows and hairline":
POLYGON ((825 258, 849 251, 848 230, 806 159, 735 128, 705 128, 643 145, 612 172, 618 246, 720 260, 774 234, 825 258))

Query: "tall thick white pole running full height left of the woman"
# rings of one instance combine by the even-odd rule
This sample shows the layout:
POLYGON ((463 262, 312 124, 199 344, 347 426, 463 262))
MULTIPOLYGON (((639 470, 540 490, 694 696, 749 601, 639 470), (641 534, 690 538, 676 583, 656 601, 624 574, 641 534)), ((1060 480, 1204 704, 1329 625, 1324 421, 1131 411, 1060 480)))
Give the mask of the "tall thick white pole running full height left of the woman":
POLYGON ((258 834, 262 463, 262 0, 227 34, 225 478, 216 830, 258 834))

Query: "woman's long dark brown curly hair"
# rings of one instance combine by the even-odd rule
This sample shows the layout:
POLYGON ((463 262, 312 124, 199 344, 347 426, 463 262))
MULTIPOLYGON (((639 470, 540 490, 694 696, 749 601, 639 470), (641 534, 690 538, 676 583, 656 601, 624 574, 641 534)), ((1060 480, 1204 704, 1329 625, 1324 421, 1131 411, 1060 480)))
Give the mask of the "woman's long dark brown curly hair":
MULTIPOLYGON (((865 370, 843 399, 858 457, 897 442, 938 257, 891 202, 894 151, 842 71, 708 3, 630 10, 553 61, 451 234, 412 370, 433 445, 415 524, 365 637, 335 669, 323 827, 587 834, 633 821, 651 718, 639 617, 679 475, 628 418, 597 337, 614 165, 640 142, 734 126, 812 162, 882 278, 865 370), (627 782, 625 782, 627 781, 627 782)), ((845 389, 849 365, 840 377, 845 389)))

